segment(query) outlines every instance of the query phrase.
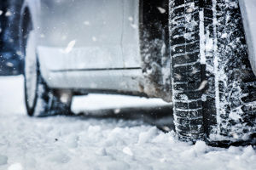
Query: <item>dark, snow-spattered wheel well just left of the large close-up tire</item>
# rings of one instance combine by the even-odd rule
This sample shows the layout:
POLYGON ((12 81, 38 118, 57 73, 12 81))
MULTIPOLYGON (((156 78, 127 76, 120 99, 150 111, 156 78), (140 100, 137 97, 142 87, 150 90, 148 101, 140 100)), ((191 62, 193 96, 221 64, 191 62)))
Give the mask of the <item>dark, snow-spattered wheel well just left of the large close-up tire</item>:
POLYGON ((146 79, 143 90, 148 96, 171 100, 171 71, 169 57, 169 0, 140 0, 140 49, 143 75, 146 79), (147 88, 148 85, 153 87, 147 88), (149 90, 148 90, 149 89, 149 90))

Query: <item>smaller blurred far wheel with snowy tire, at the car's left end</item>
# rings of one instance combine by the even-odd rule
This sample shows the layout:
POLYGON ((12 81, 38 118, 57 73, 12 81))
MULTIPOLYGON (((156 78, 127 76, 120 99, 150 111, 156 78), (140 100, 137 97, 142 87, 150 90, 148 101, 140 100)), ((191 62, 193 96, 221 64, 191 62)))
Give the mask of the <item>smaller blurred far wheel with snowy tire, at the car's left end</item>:
POLYGON ((62 102, 60 95, 44 82, 39 69, 35 48, 34 31, 29 33, 26 42, 25 58, 25 98, 29 116, 52 116, 71 114, 72 95, 66 95, 62 102))

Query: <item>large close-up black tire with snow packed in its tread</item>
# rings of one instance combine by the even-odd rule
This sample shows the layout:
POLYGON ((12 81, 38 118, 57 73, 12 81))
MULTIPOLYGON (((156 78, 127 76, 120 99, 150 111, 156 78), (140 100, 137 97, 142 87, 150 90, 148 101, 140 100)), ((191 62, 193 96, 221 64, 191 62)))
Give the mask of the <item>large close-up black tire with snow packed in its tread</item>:
POLYGON ((256 133, 256 77, 237 0, 170 0, 172 100, 185 141, 245 141, 256 133))

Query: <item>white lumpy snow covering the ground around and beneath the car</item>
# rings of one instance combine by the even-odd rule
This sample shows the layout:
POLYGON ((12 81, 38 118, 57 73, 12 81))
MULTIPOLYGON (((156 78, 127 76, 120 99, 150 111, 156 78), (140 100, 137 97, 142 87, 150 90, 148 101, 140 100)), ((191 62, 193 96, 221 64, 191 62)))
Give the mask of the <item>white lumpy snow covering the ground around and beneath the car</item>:
MULTIPOLYGON (((201 141, 195 145, 183 143, 175 133, 162 133, 141 120, 28 117, 22 81, 22 77, 0 77, 1 170, 256 169, 252 146, 223 149, 201 141)), ((84 106, 91 110, 108 108, 111 97, 90 95, 84 97, 86 105, 82 100, 78 99, 73 110, 82 111, 84 106)), ((138 98, 119 96, 114 100, 118 108, 127 103, 133 106, 133 101, 138 98)), ((165 105, 157 99, 140 102, 138 105, 165 105)))

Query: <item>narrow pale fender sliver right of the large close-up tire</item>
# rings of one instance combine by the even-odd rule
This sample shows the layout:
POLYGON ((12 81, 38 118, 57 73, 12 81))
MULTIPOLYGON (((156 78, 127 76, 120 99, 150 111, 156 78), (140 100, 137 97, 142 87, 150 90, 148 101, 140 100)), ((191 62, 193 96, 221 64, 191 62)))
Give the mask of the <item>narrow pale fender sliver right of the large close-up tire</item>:
POLYGON ((256 1, 239 0, 241 16, 247 39, 249 59, 256 75, 256 1))

